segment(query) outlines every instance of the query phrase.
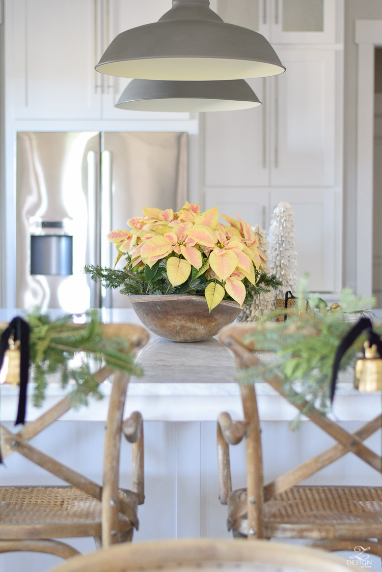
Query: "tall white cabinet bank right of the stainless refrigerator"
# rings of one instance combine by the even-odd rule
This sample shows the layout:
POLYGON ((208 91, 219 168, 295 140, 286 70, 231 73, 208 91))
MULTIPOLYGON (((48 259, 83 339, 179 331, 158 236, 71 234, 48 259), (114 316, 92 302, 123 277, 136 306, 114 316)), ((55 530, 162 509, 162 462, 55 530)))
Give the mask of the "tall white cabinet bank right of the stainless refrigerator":
MULTIPOLYGON (((298 31, 297 25, 293 31, 282 10, 297 3, 302 0, 216 0, 225 21, 271 41, 286 73, 250 80, 261 108, 204 116, 204 205, 219 204, 231 216, 237 210, 251 225, 268 229, 274 207, 289 202, 300 277, 308 273, 311 291, 339 292, 342 38, 335 31, 343 5, 322 2, 322 31, 298 31)), ((319 7, 316 0, 305 3, 319 7)))

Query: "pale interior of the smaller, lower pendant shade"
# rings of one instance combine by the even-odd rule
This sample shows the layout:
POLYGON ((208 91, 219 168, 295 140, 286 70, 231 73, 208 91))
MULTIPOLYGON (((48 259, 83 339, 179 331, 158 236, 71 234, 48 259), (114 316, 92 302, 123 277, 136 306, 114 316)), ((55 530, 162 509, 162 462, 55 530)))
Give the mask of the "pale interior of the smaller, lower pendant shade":
POLYGON ((211 112, 235 111, 255 108, 261 105, 258 101, 234 101, 210 98, 168 98, 152 100, 126 101, 116 105, 119 109, 134 111, 164 111, 164 112, 211 112))

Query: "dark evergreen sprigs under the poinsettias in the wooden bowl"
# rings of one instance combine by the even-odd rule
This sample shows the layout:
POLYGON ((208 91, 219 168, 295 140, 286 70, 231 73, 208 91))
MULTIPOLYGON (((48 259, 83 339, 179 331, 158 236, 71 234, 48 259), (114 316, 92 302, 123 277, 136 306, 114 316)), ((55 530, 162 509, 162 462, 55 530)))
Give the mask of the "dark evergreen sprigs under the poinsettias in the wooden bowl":
MULTIPOLYGON (((85 266, 84 272, 90 274, 90 278, 94 282, 101 282, 105 288, 119 288, 121 294, 201 294, 207 288, 209 282, 206 279, 206 271, 209 264, 203 259, 203 266, 198 270, 192 267, 190 277, 180 284, 180 286, 172 286, 167 277, 166 260, 158 260, 153 264, 152 268, 148 265, 143 270, 131 268, 131 257, 126 255, 127 264, 124 269, 102 268, 100 266, 85 266)), ((250 283, 245 278, 243 284, 246 288, 246 297, 244 304, 251 305, 254 296, 261 292, 269 292, 281 285, 281 282, 274 275, 267 275, 265 272, 255 269, 256 285, 250 283)), ((218 283, 219 280, 218 280, 218 283)), ((226 300, 233 300, 227 293, 226 300)))

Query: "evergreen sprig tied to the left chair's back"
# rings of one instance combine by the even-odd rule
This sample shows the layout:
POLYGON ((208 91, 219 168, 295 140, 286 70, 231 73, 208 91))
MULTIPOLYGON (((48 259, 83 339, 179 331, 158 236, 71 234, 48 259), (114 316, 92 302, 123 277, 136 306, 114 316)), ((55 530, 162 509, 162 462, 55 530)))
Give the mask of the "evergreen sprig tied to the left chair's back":
MULTIPOLYGON (((103 398, 93 372, 103 364, 140 376, 142 370, 130 353, 129 343, 122 337, 109 339, 102 334, 102 323, 97 312, 88 312, 89 321, 74 324, 73 316, 51 320, 49 315, 38 312, 25 319, 30 327, 30 366, 34 378, 33 404, 41 407, 45 399, 46 376, 60 373, 61 386, 75 383, 70 393, 72 406, 88 404, 88 396, 103 398), (80 367, 73 366, 73 359, 80 356, 80 367)), ((0 329, 1 334, 1 329, 0 329)))

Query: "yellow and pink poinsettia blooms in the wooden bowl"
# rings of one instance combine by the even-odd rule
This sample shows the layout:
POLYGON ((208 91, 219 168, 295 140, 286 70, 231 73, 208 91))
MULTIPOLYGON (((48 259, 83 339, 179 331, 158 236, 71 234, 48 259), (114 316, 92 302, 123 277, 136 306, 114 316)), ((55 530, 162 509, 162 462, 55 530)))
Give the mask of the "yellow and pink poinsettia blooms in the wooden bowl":
MULTIPOLYGON (((220 216, 225 224, 219 222, 218 207, 201 213, 198 204, 189 202, 178 212, 145 207, 142 217, 127 221, 128 230, 116 229, 107 238, 116 245, 116 264, 123 255, 128 256, 130 268, 139 272, 158 261, 166 263, 173 288, 188 281, 190 288, 183 291, 192 292, 192 284, 203 274, 208 283, 204 295, 210 311, 225 296, 242 305, 246 296, 244 281, 256 284, 264 257, 245 220, 239 215, 237 220, 220 216)), ((158 275, 153 272, 152 276, 158 275)))

